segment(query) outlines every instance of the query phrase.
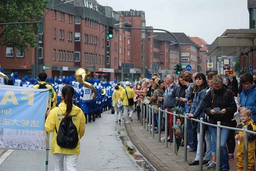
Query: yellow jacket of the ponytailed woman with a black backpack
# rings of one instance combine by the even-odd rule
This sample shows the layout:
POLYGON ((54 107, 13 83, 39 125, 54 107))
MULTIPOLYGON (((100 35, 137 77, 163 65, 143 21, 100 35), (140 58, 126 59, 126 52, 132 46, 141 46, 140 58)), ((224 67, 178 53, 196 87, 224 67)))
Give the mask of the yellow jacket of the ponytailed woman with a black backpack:
POLYGON ((51 142, 51 153, 56 154, 70 154, 70 155, 79 155, 80 154, 80 139, 84 135, 85 131, 85 123, 86 123, 86 117, 84 116, 82 110, 73 105, 72 111, 70 113, 73 120, 74 125, 77 128, 78 131, 78 144, 75 149, 66 149, 66 148, 61 148, 56 141, 57 134, 55 131, 55 127, 57 130, 59 130, 59 124, 61 119, 64 117, 62 114, 66 112, 67 105, 62 101, 59 104, 59 107, 55 107, 51 112, 49 113, 47 119, 46 119, 46 124, 45 124, 45 129, 47 132, 53 132, 52 134, 52 142, 51 142), (75 117, 76 115, 76 117, 75 117))

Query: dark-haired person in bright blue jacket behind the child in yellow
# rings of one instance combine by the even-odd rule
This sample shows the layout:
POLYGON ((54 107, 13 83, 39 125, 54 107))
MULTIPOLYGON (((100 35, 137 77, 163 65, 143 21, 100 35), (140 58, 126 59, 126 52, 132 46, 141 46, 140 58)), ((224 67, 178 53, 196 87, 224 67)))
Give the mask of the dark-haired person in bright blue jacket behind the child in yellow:
POLYGON ((256 122, 256 86, 253 83, 253 77, 250 74, 244 74, 240 82, 245 88, 240 94, 238 110, 250 109, 252 112, 251 118, 256 122))

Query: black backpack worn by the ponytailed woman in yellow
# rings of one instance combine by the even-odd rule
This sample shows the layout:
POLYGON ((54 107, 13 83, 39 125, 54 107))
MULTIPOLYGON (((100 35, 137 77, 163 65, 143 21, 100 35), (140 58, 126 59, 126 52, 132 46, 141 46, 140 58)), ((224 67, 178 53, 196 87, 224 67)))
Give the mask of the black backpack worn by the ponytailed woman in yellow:
POLYGON ((64 117, 59 124, 57 131, 57 144, 62 148, 75 149, 78 144, 78 132, 76 126, 73 124, 72 116, 64 117))

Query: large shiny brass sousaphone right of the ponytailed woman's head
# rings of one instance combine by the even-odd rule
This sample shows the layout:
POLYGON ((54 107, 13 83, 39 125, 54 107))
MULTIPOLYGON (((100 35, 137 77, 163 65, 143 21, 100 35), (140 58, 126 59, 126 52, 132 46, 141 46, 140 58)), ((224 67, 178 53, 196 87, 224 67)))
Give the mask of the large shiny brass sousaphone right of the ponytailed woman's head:
POLYGON ((76 81, 78 81, 79 83, 81 83, 84 86, 87 86, 93 90, 93 92, 94 92, 93 99, 95 99, 97 96, 96 89, 94 88, 94 86, 92 84, 86 82, 86 79, 90 79, 92 77, 90 70, 87 68, 81 67, 76 70, 75 77, 76 77, 76 81))

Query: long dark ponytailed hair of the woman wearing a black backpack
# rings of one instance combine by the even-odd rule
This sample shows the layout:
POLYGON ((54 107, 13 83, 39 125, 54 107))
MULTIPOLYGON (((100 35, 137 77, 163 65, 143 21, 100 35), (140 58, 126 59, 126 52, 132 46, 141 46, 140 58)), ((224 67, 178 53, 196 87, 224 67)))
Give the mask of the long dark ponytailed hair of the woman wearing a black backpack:
POLYGON ((73 95, 75 94, 75 90, 71 85, 66 85, 62 88, 62 96, 64 99, 64 103, 67 105, 66 112, 64 113, 65 117, 68 117, 70 112, 72 111, 73 106, 73 95))

